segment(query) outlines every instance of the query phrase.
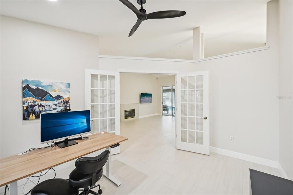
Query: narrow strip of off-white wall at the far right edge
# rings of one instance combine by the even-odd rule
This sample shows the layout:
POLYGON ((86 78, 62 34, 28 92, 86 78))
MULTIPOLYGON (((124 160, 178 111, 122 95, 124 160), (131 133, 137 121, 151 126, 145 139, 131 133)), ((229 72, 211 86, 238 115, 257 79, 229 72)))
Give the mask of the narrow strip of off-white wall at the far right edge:
POLYGON ((293 180, 293 1, 279 1, 279 162, 293 180))

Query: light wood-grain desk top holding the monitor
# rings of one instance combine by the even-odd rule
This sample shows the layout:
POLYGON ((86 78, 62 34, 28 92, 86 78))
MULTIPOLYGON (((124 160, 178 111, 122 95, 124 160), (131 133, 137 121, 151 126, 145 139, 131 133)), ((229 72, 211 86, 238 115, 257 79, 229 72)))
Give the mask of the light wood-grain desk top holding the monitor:
MULTIPOLYGON (((33 150, 27 154, 1 158, 0 187, 128 139, 107 132, 88 137, 91 139, 76 140, 78 144, 66 148, 48 147, 33 150)), ((23 152, 25 150, 26 148, 23 152)))

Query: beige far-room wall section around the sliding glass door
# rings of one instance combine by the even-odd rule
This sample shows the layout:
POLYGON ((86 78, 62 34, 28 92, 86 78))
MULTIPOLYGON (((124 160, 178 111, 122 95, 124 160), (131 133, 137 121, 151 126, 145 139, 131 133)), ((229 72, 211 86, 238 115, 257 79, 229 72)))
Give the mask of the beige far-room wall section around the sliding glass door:
MULTIPOLYGON (((157 80, 157 113, 162 113, 162 87, 163 86, 174 86, 175 85, 175 75, 159 77, 157 80)), ((176 93, 176 89, 175 89, 176 93)))

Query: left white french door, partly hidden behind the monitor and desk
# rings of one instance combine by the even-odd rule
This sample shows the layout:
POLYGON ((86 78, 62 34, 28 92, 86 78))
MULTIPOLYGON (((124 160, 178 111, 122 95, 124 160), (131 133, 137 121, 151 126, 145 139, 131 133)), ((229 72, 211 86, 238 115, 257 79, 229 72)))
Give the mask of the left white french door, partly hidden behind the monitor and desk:
MULTIPOLYGON (((85 70, 85 108, 91 112, 91 133, 109 132, 120 135, 119 73, 85 70)), ((120 147, 112 154, 120 153, 120 147)))

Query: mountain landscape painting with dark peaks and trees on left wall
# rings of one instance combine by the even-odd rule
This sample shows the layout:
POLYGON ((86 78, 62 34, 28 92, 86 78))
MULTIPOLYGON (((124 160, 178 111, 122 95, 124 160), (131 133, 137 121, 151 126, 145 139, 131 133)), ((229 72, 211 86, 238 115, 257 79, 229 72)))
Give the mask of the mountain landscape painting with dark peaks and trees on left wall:
POLYGON ((22 80, 23 120, 40 118, 41 113, 70 108, 70 84, 41 80, 22 80))

